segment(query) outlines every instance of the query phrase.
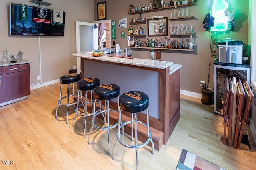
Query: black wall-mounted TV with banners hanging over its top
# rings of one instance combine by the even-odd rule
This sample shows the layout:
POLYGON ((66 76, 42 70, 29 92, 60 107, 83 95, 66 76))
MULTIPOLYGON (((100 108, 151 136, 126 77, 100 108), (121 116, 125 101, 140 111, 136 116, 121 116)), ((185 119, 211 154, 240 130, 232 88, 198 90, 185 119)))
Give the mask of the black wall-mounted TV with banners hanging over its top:
POLYGON ((53 12, 53 10, 47 9, 47 11, 51 13, 50 23, 34 22, 32 6, 27 6, 27 19, 25 18, 26 20, 22 20, 20 13, 20 5, 11 3, 10 35, 64 36, 65 12, 58 13, 58 15, 56 15, 62 15, 62 23, 56 24, 55 22, 52 22, 52 15, 54 12, 56 13, 56 10, 53 12))

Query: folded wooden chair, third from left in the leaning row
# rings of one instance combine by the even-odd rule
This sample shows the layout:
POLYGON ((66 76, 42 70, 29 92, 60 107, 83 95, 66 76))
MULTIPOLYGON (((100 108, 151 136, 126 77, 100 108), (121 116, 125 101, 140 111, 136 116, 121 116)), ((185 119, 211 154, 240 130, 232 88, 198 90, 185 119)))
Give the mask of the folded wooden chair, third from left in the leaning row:
POLYGON ((236 83, 237 85, 237 99, 236 99, 236 105, 237 105, 237 115, 236 115, 236 125, 235 125, 235 137, 234 137, 234 148, 237 148, 237 142, 238 142, 238 133, 239 133, 239 122, 242 117, 242 112, 244 108, 244 88, 241 83, 241 80, 236 83))

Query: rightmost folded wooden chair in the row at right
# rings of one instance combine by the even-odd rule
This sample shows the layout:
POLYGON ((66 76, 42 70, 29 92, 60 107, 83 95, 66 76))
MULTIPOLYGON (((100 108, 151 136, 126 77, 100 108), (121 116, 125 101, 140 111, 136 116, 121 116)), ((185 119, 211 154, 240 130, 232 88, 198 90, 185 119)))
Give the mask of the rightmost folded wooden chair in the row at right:
POLYGON ((248 118, 249 118, 251 107, 252 107, 252 99, 253 99, 253 96, 254 96, 252 94, 252 90, 251 90, 249 84, 247 83, 247 81, 245 81, 243 83, 243 86, 244 86, 244 91, 245 91, 245 94, 247 96, 247 99, 246 99, 246 105, 245 105, 245 109, 244 109, 244 115, 242 117, 242 122, 241 122, 240 130, 239 130, 239 137, 238 137, 238 143, 237 143, 237 148, 236 149, 240 148, 242 135, 243 135, 243 130, 244 130, 244 123, 246 123, 248 118))

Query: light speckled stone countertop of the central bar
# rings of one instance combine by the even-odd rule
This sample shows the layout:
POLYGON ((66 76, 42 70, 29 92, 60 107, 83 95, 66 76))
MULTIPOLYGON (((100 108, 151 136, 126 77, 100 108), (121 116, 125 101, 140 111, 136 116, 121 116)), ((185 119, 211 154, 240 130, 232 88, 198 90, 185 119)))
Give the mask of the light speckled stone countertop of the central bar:
MULTIPOLYGON (((111 55, 117 55, 117 54, 111 54, 111 55)), ((72 56, 99 60, 99 61, 108 61, 108 62, 114 62, 114 63, 144 66, 149 68, 165 69, 167 67, 170 67, 170 74, 172 74, 173 72, 175 72, 176 70, 182 67, 182 65, 173 64, 173 62, 171 61, 158 61, 158 60, 140 59, 140 58, 128 59, 128 58, 120 58, 120 57, 110 57, 107 55, 94 57, 90 55, 90 52, 77 52, 72 54, 72 56)))

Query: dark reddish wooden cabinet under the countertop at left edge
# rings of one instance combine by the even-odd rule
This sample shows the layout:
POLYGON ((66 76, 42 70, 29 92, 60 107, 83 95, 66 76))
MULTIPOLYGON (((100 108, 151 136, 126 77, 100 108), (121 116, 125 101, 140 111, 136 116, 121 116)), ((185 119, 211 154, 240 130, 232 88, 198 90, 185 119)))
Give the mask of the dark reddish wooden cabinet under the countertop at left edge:
POLYGON ((16 100, 29 94, 29 63, 0 67, 0 106, 5 105, 4 102, 16 100))

